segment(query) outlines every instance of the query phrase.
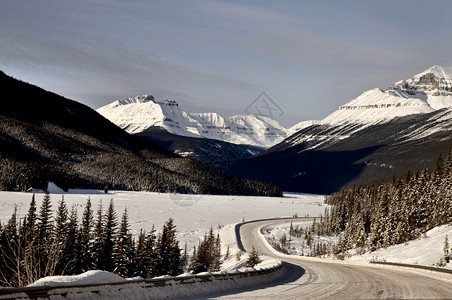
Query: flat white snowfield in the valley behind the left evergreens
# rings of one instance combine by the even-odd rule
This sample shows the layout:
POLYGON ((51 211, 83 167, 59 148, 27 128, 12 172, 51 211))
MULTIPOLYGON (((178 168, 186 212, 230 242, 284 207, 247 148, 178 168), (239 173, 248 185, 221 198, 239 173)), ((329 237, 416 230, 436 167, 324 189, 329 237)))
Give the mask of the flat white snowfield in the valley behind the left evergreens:
MULTIPOLYGON (((58 189, 52 187, 53 192, 58 189)), ((44 194, 36 194, 38 210, 44 194)), ((140 229, 149 231, 152 224, 159 231, 168 218, 174 218, 177 226, 180 246, 187 242, 188 249, 193 249, 212 226, 233 224, 245 220, 298 216, 319 216, 325 205, 324 196, 286 193, 284 198, 213 196, 213 195, 179 195, 148 192, 69 190, 69 193, 52 193, 53 210, 61 197, 70 208, 76 205, 79 218, 83 213, 88 197, 91 198, 94 211, 100 200, 106 210, 113 199, 118 219, 125 208, 128 210, 132 233, 136 236, 140 229)), ((32 194, 0 192, 0 222, 5 224, 11 217, 14 206, 18 207, 19 217, 23 217, 29 208, 32 194)), ((233 232, 235 242, 235 233, 233 232)), ((223 238, 223 237, 222 237, 223 238)))

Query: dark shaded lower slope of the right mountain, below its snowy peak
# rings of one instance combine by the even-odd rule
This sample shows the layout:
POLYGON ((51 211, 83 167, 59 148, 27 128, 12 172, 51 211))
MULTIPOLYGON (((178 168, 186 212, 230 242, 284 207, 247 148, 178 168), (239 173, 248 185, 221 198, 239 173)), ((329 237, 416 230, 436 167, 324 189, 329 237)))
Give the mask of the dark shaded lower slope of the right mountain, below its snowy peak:
POLYGON ((450 108, 369 126, 313 125, 238 161, 229 174, 285 191, 331 194, 343 186, 379 183, 408 170, 433 168, 438 153, 446 154, 451 145, 450 108))

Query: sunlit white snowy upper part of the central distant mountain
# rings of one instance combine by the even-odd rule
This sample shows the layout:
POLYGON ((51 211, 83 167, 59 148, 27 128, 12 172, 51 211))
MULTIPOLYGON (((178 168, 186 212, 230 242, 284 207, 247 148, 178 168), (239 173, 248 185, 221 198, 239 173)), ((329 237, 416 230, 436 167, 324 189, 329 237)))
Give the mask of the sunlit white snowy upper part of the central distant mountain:
POLYGON ((284 128, 277 121, 259 115, 224 118, 217 113, 187 113, 174 100, 158 101, 151 95, 114 101, 97 110, 131 134, 160 127, 169 133, 269 148, 315 121, 284 128))

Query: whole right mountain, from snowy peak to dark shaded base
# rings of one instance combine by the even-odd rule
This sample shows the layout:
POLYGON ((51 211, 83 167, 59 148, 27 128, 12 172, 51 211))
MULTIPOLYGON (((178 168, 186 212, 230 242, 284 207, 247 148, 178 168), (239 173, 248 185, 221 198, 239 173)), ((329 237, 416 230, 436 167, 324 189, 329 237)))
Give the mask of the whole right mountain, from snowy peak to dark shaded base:
POLYGON ((433 66, 367 91, 229 174, 283 190, 332 193, 432 167, 452 146, 452 68, 433 66))

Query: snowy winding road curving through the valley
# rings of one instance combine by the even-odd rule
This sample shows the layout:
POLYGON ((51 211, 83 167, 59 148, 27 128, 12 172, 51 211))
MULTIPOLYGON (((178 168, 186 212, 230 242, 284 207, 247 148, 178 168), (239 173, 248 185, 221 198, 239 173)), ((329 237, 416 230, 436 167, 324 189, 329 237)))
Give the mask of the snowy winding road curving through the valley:
MULTIPOLYGON (((297 219, 299 221, 299 219, 297 219)), ((288 220, 245 223, 241 246, 280 258, 286 276, 271 286, 236 292, 217 299, 452 299, 452 276, 417 270, 321 262, 277 253, 259 237, 260 228, 288 220)))

